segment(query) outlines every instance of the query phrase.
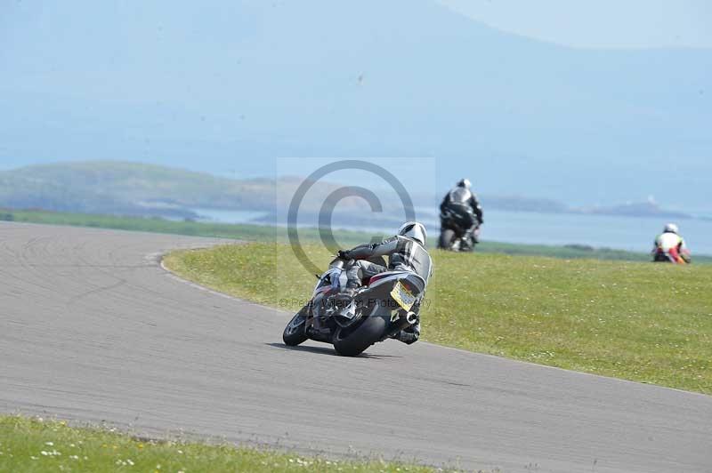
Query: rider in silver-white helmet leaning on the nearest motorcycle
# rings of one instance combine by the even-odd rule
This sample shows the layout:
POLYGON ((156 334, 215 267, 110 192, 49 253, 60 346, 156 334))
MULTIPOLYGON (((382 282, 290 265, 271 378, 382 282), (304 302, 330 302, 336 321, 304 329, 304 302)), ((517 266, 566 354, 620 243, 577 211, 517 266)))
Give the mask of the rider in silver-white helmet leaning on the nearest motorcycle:
MULTIPOLYGON (((425 280, 425 285, 433 275, 433 261, 425 249, 427 232, 425 227, 417 221, 409 221, 399 228, 398 233, 381 243, 374 245, 360 245, 352 250, 339 250, 338 257, 345 261, 356 260, 352 267, 346 271, 348 282, 345 294, 353 296, 361 281, 368 280, 384 271, 409 271, 416 273, 425 280), (388 256, 388 267, 367 261, 369 258, 388 256)), ((417 323, 396 333, 393 338, 407 344, 415 343, 420 337, 420 304, 413 311, 416 312, 417 323)))

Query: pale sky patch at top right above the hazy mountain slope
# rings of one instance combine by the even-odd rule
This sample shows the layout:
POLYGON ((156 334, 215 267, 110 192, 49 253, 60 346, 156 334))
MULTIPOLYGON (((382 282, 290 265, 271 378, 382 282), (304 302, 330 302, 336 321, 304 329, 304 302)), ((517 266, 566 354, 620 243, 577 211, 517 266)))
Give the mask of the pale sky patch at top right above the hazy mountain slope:
POLYGON ((709 0, 439 0, 491 27, 586 48, 712 48, 709 0))

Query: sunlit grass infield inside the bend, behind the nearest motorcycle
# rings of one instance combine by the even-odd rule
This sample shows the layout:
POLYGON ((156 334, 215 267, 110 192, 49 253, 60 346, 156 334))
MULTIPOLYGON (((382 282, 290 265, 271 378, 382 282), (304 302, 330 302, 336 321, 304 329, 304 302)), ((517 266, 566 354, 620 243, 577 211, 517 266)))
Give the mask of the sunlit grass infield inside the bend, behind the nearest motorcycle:
MULTIPOLYGON (((327 251, 305 249, 326 268, 327 251)), ((433 259, 427 341, 712 394, 710 266, 440 251, 433 259)), ((166 265, 201 285, 287 310, 298 309, 314 284, 287 245, 178 252, 166 265)))

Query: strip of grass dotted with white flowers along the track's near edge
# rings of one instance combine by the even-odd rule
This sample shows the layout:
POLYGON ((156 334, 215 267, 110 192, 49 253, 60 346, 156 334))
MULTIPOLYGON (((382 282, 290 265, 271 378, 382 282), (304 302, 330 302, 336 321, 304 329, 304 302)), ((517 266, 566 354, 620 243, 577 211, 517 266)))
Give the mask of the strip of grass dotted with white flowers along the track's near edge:
POLYGON ((384 461, 305 458, 231 445, 152 442, 63 421, 0 416, 0 471, 412 471, 433 469, 384 461))

